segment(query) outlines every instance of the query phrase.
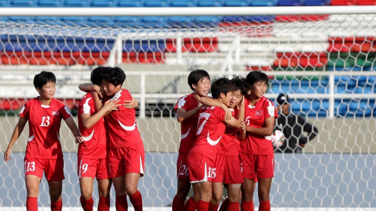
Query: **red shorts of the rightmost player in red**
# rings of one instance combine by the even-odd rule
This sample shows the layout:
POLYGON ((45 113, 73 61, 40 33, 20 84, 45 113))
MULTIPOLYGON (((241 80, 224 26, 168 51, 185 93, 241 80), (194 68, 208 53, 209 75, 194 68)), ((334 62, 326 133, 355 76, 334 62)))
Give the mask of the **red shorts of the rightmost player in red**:
POLYGON ((274 154, 250 155, 240 152, 239 157, 244 179, 274 177, 274 154))

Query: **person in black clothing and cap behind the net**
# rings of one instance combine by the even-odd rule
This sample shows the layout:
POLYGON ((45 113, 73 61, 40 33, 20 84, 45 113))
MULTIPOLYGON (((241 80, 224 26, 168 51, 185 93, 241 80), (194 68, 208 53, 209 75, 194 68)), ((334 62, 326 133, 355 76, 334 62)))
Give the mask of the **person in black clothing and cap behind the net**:
POLYGON ((286 139, 282 146, 276 148, 275 152, 302 152, 306 143, 316 137, 318 130, 311 122, 300 115, 290 111, 290 98, 282 93, 277 97, 278 119, 274 130, 280 130, 284 133, 286 139), (307 132, 308 135, 305 135, 307 132))

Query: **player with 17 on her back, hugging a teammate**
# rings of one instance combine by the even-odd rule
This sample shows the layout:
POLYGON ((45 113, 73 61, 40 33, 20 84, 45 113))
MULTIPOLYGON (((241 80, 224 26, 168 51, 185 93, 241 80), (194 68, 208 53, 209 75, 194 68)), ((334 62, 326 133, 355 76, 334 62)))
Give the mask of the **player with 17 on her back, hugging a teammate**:
MULTIPOLYGON (((215 80, 211 87, 213 98, 230 106, 233 100, 233 84, 228 78, 215 80)), ((203 106, 197 125, 196 141, 187 157, 190 181, 193 187, 193 200, 199 199, 197 207, 191 202, 186 210, 208 210, 212 192, 212 168, 215 165, 217 149, 225 131, 225 124, 240 128, 240 121, 231 117, 224 118, 225 112, 220 107, 203 106), (196 196, 196 194, 199 196, 196 196)), ((192 199, 191 199, 192 200, 192 199)))

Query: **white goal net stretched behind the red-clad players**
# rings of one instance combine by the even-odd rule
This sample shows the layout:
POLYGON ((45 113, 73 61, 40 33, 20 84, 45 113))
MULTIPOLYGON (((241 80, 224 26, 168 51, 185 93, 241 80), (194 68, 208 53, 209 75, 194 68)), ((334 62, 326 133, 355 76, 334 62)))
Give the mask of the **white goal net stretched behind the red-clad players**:
MULTIPOLYGON (((376 207, 376 14, 353 8, 359 14, 327 10, 296 15, 279 7, 262 15, 254 8, 258 15, 1 16, 1 149, 11 139, 22 105, 37 96, 35 74, 55 73, 55 97, 77 121, 83 95, 78 85, 89 83, 98 65, 119 66, 126 73, 123 88, 139 102, 137 122, 146 150, 146 174, 139 181, 144 206, 170 206, 180 142, 172 108, 191 92, 189 72, 205 69, 213 80, 261 70, 269 77, 266 96, 276 103, 280 93, 287 93, 291 112, 318 129, 308 132, 316 137, 304 148, 296 143, 275 149, 271 206, 376 207)), ((26 206, 27 127, 12 149, 12 160, 0 162, 0 207, 6 210, 26 206)), ((79 207, 77 144, 64 123, 61 143, 63 205, 79 207)), ((48 208, 43 180, 38 204, 48 208)), ((94 204, 96 190, 95 184, 94 204)), ((258 206, 257 189, 254 196, 258 206)))

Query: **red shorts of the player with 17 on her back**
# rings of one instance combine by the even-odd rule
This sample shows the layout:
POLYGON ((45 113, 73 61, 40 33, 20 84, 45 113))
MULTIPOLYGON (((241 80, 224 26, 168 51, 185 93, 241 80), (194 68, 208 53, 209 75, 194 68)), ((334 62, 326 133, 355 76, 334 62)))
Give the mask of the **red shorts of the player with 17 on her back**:
POLYGON ((197 152, 190 152, 187 156, 187 166, 191 183, 211 182, 214 160, 197 152))

